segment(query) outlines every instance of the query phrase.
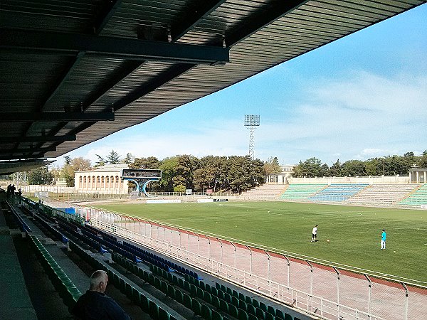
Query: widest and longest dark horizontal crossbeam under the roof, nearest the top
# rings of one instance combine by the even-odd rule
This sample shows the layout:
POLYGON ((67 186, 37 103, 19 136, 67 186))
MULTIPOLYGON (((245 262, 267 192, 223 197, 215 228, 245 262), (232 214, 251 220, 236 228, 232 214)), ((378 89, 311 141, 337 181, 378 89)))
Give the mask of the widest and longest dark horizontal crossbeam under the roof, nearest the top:
POLYGON ((159 60, 174 63, 228 63, 229 49, 184 43, 165 43, 78 33, 53 33, 0 28, 0 48, 58 52, 85 51, 110 58, 159 60))

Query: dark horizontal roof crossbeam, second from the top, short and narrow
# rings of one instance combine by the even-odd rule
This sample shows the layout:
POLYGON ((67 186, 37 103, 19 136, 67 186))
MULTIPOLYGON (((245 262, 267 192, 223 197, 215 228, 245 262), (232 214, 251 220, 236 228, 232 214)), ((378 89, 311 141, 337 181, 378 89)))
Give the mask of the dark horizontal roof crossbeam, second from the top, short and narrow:
POLYGON ((112 112, 1 112, 0 122, 111 121, 112 112))

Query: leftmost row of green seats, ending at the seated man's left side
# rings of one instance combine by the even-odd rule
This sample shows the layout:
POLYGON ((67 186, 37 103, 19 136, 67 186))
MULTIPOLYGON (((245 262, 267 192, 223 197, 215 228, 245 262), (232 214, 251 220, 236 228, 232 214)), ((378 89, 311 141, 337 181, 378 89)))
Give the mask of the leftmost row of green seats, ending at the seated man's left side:
POLYGON ((60 297, 68 309, 72 309, 75 302, 81 296, 80 291, 75 287, 67 274, 63 272, 58 263, 53 259, 51 254, 41 244, 40 240, 36 236, 30 235, 31 245, 36 250, 36 255, 41 260, 41 265, 48 274, 49 279, 53 284, 53 287, 58 291, 60 297))

